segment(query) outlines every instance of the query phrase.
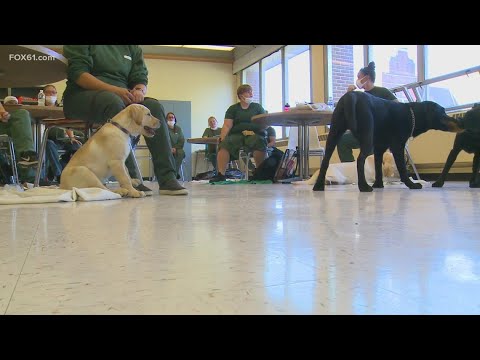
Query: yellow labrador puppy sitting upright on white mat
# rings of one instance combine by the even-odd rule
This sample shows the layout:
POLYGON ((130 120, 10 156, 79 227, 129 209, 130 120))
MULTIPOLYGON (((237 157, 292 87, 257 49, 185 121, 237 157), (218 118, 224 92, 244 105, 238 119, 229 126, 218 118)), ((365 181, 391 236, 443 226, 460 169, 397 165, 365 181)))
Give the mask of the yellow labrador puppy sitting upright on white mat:
POLYGON ((60 178, 61 189, 98 187, 107 189, 103 180, 115 176, 119 189, 111 190, 121 196, 144 197, 143 191, 132 186, 125 167, 130 153, 130 136, 155 135, 160 121, 143 105, 132 104, 104 124, 72 156, 60 178))

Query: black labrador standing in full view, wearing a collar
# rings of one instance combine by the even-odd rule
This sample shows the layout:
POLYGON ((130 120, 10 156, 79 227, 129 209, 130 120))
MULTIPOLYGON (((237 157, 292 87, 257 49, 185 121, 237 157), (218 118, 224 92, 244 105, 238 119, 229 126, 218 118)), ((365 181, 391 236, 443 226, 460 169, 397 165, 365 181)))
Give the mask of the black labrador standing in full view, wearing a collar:
POLYGON ((367 184, 364 173, 365 159, 372 153, 372 149, 375 158, 374 188, 383 188, 383 153, 390 148, 402 182, 410 189, 421 189, 421 184, 412 182, 407 176, 404 153, 408 138, 430 129, 461 131, 458 120, 448 116, 443 107, 432 101, 404 104, 384 100, 365 92, 347 92, 340 98, 333 112, 325 157, 313 187, 314 191, 325 190, 325 175, 330 158, 340 137, 347 129, 360 142, 357 173, 358 188, 362 192, 373 190, 367 184))

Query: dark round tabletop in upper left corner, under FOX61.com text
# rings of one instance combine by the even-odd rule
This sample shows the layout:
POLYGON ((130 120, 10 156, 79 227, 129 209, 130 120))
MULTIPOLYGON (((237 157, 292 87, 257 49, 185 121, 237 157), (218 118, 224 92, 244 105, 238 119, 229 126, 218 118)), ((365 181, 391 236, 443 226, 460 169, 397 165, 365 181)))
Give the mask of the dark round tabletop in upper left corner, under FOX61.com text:
POLYGON ((0 88, 31 87, 67 77, 67 59, 40 45, 0 45, 0 88))

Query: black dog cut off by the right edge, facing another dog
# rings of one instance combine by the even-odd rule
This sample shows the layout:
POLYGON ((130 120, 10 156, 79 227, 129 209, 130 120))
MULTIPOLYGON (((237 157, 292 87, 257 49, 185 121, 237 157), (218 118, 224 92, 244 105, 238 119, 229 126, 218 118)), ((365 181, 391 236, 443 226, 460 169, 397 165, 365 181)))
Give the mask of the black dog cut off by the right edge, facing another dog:
POLYGON ((465 131, 455 136, 453 149, 448 155, 440 177, 432 184, 433 187, 443 186, 450 168, 460 151, 463 150, 469 154, 474 154, 470 187, 480 188, 480 174, 478 173, 480 168, 480 104, 476 104, 471 110, 467 111, 465 116, 460 119, 460 124, 465 131))

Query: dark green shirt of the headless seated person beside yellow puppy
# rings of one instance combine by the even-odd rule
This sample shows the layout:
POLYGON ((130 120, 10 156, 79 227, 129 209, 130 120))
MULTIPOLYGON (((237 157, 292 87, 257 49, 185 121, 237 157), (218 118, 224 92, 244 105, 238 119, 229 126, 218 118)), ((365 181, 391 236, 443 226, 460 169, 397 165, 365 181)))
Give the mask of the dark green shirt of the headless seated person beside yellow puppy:
POLYGON ((65 92, 84 90, 76 84, 84 72, 127 89, 148 84, 148 70, 138 45, 64 45, 63 55, 68 60, 65 92))

